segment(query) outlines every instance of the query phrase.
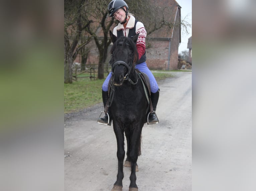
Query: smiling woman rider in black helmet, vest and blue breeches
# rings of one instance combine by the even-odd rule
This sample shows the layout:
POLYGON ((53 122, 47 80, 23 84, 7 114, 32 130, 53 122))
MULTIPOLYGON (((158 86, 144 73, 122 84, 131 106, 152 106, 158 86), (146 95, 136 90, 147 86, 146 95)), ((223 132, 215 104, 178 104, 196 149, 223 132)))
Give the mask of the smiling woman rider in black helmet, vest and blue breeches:
MULTIPOLYGON (((150 88, 151 88, 151 102, 153 106, 154 112, 150 113, 148 116, 148 123, 149 124, 155 124, 158 123, 158 118, 156 116, 155 110, 156 105, 159 98, 159 88, 157 85, 157 82, 152 74, 152 72, 148 69, 146 64, 146 44, 145 44, 145 38, 147 35, 147 32, 144 28, 144 25, 137 21, 134 16, 132 16, 130 13, 128 13, 128 5, 123 0, 112 0, 108 5, 108 11, 110 17, 113 17, 118 20, 119 24, 114 28, 113 34, 118 38, 120 36, 130 37, 132 38, 137 33, 139 33, 138 40, 136 42, 137 51, 139 54, 139 61, 136 64, 136 69, 138 69, 141 72, 144 72, 147 74, 149 80, 150 80, 150 88)), ((104 107, 107 104, 108 101, 108 84, 109 80, 111 79, 111 73, 107 76, 105 82, 102 85, 102 99, 104 107)), ((105 125, 111 125, 111 114, 110 114, 110 108, 108 108, 108 114, 110 116, 110 120, 108 123, 108 115, 106 114, 104 117, 99 118, 97 120, 100 124, 105 125)))

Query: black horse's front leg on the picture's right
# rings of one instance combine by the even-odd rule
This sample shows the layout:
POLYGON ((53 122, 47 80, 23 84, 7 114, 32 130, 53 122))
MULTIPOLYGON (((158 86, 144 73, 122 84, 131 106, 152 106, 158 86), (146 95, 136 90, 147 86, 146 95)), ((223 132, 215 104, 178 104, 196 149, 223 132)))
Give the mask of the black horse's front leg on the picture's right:
MULTIPOLYGON (((142 125, 143 126, 143 125, 142 125)), ((130 175, 130 186, 129 191, 137 191, 138 187, 136 185, 136 164, 139 154, 139 145, 140 145, 140 135, 142 126, 137 124, 136 127, 132 128, 134 131, 131 136, 131 146, 130 146, 130 162, 131 162, 131 175, 130 175)))

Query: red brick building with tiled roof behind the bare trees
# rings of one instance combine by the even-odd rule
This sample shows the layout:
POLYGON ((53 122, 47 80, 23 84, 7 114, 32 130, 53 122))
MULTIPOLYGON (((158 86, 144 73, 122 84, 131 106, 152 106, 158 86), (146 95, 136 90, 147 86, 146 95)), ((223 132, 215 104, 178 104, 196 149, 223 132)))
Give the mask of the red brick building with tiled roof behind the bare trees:
MULTIPOLYGON (((152 4, 157 5, 162 12, 159 14, 159 21, 164 17, 169 26, 154 31, 146 37, 146 63, 149 69, 158 70, 176 70, 178 67, 178 47, 181 42, 180 29, 180 9, 181 7, 175 0, 154 1, 152 4)), ((136 15, 135 15, 136 18, 136 15)), ((143 21, 142 21, 143 22, 143 21)), ((146 22, 146 21, 145 21, 146 22)), ((144 23, 144 22, 143 22, 144 23)), ((93 23, 93 25, 96 23, 93 23)), ((145 25, 145 24, 144 24, 145 25)), ((113 30, 115 26, 111 27, 113 30)), ((146 28, 147 30, 147 28, 146 28)), ((97 36, 101 39, 102 29, 98 28, 97 36)), ((99 53, 95 43, 90 43, 90 54, 87 63, 98 63, 99 53)), ((110 57, 110 55, 108 55, 110 57)), ((106 60, 106 65, 110 58, 106 60)), ((75 62, 80 63, 78 55, 75 62)))

